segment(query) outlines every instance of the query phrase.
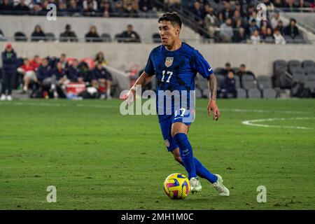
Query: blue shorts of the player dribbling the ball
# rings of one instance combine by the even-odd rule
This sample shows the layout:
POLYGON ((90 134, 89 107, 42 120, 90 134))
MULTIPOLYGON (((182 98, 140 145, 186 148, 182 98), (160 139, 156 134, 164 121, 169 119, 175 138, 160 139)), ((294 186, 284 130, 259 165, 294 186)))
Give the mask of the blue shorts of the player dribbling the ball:
POLYGON ((181 111, 183 113, 173 113, 169 116, 164 116, 163 120, 160 120, 160 127, 162 131, 162 136, 165 142, 165 146, 167 147, 167 151, 172 152, 174 149, 179 148, 176 145, 173 137, 172 137, 172 125, 173 123, 180 122, 188 125, 193 122, 193 118, 190 119, 190 112, 189 111, 181 111))

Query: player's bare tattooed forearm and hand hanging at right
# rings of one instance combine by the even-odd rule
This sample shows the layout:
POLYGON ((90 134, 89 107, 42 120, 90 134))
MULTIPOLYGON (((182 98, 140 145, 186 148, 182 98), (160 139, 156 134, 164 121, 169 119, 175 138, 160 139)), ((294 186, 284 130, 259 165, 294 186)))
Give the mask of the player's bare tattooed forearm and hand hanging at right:
POLYGON ((216 90, 217 90, 217 83, 216 83, 216 76, 212 73, 210 76, 207 77, 208 80, 208 87, 209 87, 209 104, 208 104, 208 116, 211 116, 211 111, 214 111, 214 120, 218 120, 220 117, 220 111, 218 106, 216 105, 216 90))

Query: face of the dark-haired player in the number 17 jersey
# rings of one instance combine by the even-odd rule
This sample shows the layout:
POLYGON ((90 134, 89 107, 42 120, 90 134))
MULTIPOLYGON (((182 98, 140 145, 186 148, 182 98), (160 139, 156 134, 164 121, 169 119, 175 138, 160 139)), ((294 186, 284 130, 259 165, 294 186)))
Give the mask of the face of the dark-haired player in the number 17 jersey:
POLYGON ((174 27, 170 21, 161 21, 159 29, 163 45, 172 46, 176 38, 179 38, 180 28, 174 27))

